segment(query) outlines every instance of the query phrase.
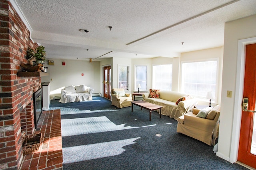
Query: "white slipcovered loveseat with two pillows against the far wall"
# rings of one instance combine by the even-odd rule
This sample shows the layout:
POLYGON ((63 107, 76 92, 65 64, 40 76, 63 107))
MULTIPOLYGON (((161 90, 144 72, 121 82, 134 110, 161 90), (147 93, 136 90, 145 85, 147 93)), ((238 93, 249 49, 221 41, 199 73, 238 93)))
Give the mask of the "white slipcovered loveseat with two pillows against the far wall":
POLYGON ((81 102, 86 100, 92 100, 92 92, 94 90, 90 87, 79 85, 79 86, 68 86, 61 90, 61 103, 81 102))

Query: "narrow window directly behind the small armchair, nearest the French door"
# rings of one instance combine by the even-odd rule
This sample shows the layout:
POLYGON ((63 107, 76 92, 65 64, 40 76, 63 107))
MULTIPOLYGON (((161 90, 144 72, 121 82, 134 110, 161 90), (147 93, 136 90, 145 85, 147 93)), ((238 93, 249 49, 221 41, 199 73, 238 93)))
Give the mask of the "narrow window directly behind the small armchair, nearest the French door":
POLYGON ((118 66, 118 88, 129 90, 129 66, 118 66))

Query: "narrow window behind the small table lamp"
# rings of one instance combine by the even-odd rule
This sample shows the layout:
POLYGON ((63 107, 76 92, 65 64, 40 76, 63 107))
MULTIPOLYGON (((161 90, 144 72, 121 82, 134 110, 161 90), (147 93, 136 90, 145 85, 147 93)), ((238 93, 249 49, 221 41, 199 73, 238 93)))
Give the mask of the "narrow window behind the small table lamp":
POLYGON ((147 90, 147 66, 135 65, 135 84, 134 89, 140 84, 140 90, 147 90))

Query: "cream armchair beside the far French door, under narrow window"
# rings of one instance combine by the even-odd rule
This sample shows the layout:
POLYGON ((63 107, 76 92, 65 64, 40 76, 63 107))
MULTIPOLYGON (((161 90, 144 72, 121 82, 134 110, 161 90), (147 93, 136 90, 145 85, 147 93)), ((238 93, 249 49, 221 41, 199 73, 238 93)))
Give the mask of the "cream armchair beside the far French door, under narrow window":
POLYGON ((132 106, 132 94, 125 93, 123 88, 113 88, 111 97, 112 105, 118 108, 132 106))

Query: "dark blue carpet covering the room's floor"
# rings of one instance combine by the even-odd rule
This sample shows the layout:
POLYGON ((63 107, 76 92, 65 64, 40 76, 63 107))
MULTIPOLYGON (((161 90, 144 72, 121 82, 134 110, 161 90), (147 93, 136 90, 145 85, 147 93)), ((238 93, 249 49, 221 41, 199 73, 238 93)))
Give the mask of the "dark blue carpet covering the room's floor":
POLYGON ((216 156, 213 146, 176 132, 177 121, 105 98, 61 104, 64 170, 246 170, 216 156), (161 137, 156 136, 161 134, 161 137))

